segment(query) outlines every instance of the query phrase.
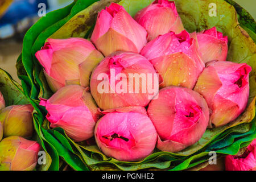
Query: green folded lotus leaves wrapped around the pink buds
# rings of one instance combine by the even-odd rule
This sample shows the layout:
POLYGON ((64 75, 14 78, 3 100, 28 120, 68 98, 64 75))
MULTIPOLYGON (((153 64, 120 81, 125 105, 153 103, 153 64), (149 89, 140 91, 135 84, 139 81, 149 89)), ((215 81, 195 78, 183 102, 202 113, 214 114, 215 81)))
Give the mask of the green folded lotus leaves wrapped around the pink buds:
POLYGON ((75 170, 184 170, 202 165, 209 160, 209 151, 216 151, 218 155, 235 155, 256 138, 255 21, 246 10, 232 0, 176 0, 175 3, 187 31, 202 31, 216 26, 218 31, 228 36, 228 60, 247 63, 252 67, 249 104, 236 121, 216 129, 207 129, 199 142, 176 154, 155 150, 153 154, 139 162, 121 162, 108 158, 97 146, 75 143, 67 137, 63 129, 49 128, 49 123, 45 119, 47 111, 39 106, 39 98, 49 98, 52 92, 43 75, 42 66, 36 60, 36 51, 40 50, 48 38, 89 39, 96 23, 97 13, 112 2, 119 3, 131 16, 134 16, 152 1, 77 0, 63 9, 48 13, 28 30, 16 68, 24 94, 36 110, 34 113, 36 132, 44 146, 47 146, 47 152, 52 159, 49 167, 43 169, 59 169, 62 161, 59 159, 60 156, 75 170), (216 3, 217 16, 209 16, 210 3, 216 3))

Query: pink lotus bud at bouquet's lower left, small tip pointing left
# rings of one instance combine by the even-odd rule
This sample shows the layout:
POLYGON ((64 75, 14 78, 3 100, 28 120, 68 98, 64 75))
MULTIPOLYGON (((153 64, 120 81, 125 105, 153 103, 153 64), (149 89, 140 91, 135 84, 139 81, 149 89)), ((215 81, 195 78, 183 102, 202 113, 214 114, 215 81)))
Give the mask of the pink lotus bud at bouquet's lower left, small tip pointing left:
POLYGON ((40 99, 45 106, 51 127, 61 127, 76 142, 93 137, 100 112, 88 89, 69 85, 59 89, 49 100, 40 99))

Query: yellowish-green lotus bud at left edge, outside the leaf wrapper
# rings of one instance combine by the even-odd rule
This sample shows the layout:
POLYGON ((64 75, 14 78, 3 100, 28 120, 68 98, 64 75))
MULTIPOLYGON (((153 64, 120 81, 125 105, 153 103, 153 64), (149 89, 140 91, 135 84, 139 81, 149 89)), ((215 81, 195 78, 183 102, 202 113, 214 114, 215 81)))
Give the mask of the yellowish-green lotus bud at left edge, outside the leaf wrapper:
MULTIPOLYGON (((14 105, 0 110, 3 137, 32 137, 34 131, 32 105, 14 105)), ((0 132, 1 133, 1 132, 0 132)))

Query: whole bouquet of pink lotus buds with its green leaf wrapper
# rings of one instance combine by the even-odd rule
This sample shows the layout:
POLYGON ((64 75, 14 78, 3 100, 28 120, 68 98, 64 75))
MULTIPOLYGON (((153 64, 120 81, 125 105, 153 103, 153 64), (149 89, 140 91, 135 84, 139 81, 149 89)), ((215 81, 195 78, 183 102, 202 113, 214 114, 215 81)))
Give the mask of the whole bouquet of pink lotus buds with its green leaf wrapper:
POLYGON ((210 1, 77 0, 28 31, 18 75, 51 151, 76 170, 182 170, 256 138, 254 34, 226 1, 223 20, 195 3, 210 1))

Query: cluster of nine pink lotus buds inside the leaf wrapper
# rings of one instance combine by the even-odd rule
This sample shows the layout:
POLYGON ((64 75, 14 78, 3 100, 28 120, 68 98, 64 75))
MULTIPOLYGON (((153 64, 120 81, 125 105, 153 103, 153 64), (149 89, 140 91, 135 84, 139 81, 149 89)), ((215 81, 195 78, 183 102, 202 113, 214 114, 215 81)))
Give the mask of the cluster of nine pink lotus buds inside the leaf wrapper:
POLYGON ((209 28, 189 34, 172 1, 156 0, 134 18, 112 3, 90 40, 48 39, 36 57, 55 92, 40 98, 50 127, 97 144, 108 160, 200 143, 207 127, 234 121, 249 98, 251 67, 226 60, 228 37, 209 28))

